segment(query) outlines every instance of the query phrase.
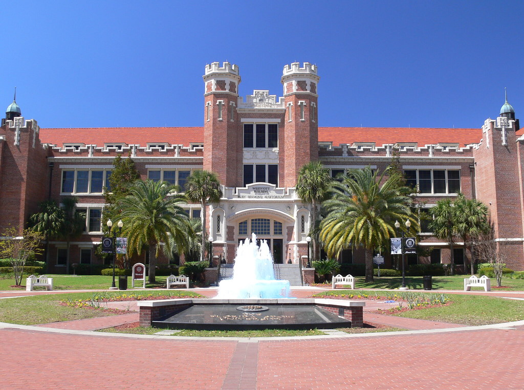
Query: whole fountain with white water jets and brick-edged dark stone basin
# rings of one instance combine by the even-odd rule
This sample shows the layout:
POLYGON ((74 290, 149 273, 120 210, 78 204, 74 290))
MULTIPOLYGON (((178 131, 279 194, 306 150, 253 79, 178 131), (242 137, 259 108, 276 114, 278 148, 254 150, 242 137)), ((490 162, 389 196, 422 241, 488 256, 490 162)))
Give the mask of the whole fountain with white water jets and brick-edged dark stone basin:
POLYGON ((142 301, 140 324, 172 329, 312 329, 362 326, 363 302, 289 298, 289 281, 275 280, 268 244, 256 236, 238 246, 233 278, 209 299, 142 301))

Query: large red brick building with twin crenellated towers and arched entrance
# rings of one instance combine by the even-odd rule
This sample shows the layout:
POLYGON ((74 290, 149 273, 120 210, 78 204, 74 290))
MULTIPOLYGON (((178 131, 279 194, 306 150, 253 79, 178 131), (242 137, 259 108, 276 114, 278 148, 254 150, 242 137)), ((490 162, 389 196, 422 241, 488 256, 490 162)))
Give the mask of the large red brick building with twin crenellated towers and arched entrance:
MULTIPOLYGON (((424 208, 457 190, 482 200, 507 248, 508 266, 524 270, 524 129, 507 99, 481 128, 319 127, 317 71, 310 63, 286 65, 282 97, 255 90, 244 98, 238 66, 206 65, 203 127, 44 129, 21 116, 15 96, 0 129, 0 229, 21 229, 42 200, 75 195, 86 222, 72 242, 71 263, 100 264, 94 246, 105 223, 102 188, 116 155, 130 153, 142 179, 183 186, 194 170, 219 176, 224 196, 205 211, 215 261, 223 254, 232 262, 238 240, 254 231, 268 240, 275 262, 298 263, 310 224, 310 205, 294 191, 301 166, 320 159, 333 177, 368 165, 381 171, 396 149, 424 208)), ((202 213, 199 205, 185 208, 192 217, 202 213)), ((420 245, 433 249, 410 263, 450 262, 446 242, 424 224, 419 235, 420 245)), ((462 264, 463 243, 454 255, 462 264)), ((51 271, 64 269, 64 256, 65 243, 52 242, 51 271)), ((363 263, 364 255, 346 250, 341 261, 363 263)))

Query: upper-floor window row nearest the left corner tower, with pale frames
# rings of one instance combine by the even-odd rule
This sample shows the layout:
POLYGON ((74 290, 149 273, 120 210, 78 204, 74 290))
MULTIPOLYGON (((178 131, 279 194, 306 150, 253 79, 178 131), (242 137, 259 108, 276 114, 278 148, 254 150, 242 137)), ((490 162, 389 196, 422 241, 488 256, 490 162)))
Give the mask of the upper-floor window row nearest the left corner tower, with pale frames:
POLYGON ((110 191, 106 170, 65 170, 62 171, 62 193, 102 194, 104 186, 110 191))

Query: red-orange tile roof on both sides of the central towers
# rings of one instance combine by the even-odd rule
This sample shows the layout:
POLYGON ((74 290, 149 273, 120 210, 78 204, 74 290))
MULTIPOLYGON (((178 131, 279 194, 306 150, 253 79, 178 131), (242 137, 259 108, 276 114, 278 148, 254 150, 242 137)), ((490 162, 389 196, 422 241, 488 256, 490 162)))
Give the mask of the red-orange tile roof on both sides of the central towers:
MULTIPOLYGON (((524 128, 519 130, 524 132, 524 128)), ((375 142, 376 146, 397 142, 417 142, 418 146, 435 143, 458 143, 460 147, 478 143, 482 129, 431 129, 397 127, 319 127, 319 142, 375 142)), ((168 142, 189 146, 204 142, 203 127, 136 127, 136 128, 71 128, 40 129, 40 140, 61 147, 63 143, 96 144, 124 142, 127 144, 168 142)))

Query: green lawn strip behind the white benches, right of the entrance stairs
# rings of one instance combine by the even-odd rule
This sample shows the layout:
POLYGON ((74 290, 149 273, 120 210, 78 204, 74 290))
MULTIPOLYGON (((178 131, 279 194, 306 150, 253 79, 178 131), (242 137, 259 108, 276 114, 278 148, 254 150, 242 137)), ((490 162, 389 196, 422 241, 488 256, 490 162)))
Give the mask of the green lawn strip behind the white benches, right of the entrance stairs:
MULTIPOLYGON (((445 290, 464 290, 464 278, 469 275, 455 275, 455 276, 433 276, 432 287, 433 289, 445 289, 445 290)), ((372 283, 364 282, 364 276, 355 277, 356 288, 399 288, 402 285, 402 277, 377 277, 372 283)), ((413 289, 422 289, 423 285, 422 276, 406 276, 406 286, 413 289)), ((507 277, 502 278, 503 287, 496 287, 497 283, 495 278, 491 280, 492 290, 505 290, 505 291, 524 291, 524 279, 510 279, 507 277)), ((483 291, 482 288, 472 288, 478 291, 483 291)))

